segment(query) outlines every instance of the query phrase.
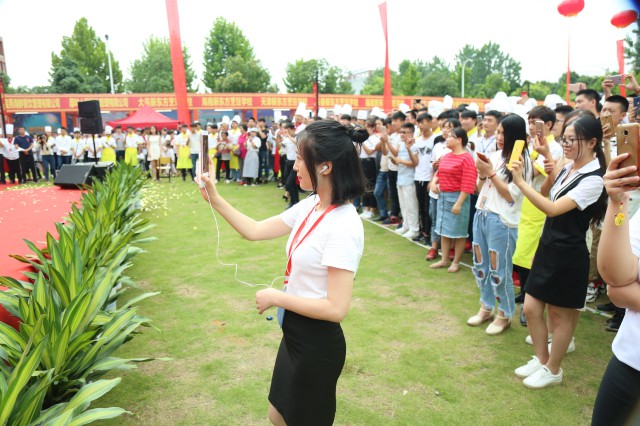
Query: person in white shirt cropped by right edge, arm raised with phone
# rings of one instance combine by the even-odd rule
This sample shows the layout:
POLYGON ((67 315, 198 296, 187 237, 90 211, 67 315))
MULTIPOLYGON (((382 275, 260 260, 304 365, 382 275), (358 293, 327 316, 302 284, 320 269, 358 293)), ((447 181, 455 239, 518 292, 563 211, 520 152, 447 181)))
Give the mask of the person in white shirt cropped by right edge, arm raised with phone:
POLYGON ((640 214, 629 220, 629 194, 638 189, 632 185, 638 185, 640 178, 635 166, 618 169, 627 156, 611 160, 604 176, 609 206, 598 246, 598 270, 611 301, 627 312, 600 383, 591 419, 594 426, 637 424, 640 419, 640 214))

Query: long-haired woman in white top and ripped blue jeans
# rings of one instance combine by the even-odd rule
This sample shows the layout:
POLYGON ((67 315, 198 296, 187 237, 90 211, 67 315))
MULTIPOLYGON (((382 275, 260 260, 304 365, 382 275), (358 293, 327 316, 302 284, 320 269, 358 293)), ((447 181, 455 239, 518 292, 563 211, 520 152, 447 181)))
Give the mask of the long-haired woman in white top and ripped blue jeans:
MULTIPOLYGON (((490 336, 497 336, 511 326, 516 308, 512 258, 524 196, 507 165, 515 142, 526 138, 525 121, 519 115, 510 115, 498 124, 498 150, 488 157, 480 153, 476 160, 479 194, 473 218, 473 274, 480 288, 480 311, 467 324, 477 326, 493 319, 497 300, 498 315, 486 329, 490 336)), ((525 179, 531 183, 533 166, 526 148, 522 158, 525 179)))

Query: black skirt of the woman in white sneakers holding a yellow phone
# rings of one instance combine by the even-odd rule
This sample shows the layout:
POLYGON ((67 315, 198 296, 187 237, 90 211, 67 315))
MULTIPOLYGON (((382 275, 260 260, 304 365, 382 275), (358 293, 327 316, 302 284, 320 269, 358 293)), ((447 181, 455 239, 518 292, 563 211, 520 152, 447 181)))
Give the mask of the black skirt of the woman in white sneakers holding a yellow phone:
POLYGON ((587 297, 589 250, 538 245, 525 292, 561 308, 581 309, 587 297))

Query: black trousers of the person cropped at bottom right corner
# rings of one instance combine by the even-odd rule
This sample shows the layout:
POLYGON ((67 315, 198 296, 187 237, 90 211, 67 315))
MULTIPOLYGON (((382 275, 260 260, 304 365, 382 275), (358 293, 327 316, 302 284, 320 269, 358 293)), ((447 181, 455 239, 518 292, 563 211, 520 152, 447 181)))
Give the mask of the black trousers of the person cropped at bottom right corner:
POLYGON ((604 372, 593 407, 592 426, 637 425, 640 422, 640 371, 614 355, 604 372))

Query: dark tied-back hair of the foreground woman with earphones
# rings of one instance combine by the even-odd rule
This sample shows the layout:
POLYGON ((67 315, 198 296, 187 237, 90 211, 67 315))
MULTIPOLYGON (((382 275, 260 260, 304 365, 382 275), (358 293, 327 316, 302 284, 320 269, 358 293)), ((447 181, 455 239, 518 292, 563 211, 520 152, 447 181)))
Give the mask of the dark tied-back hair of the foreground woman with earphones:
POLYGON ((334 120, 321 120, 309 124, 297 138, 298 152, 309 171, 314 192, 318 188, 316 167, 331 162, 331 204, 342 205, 362 195, 367 180, 355 144, 361 146, 369 138, 369 132, 334 120))

